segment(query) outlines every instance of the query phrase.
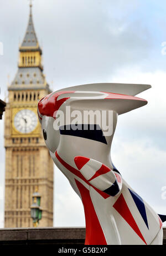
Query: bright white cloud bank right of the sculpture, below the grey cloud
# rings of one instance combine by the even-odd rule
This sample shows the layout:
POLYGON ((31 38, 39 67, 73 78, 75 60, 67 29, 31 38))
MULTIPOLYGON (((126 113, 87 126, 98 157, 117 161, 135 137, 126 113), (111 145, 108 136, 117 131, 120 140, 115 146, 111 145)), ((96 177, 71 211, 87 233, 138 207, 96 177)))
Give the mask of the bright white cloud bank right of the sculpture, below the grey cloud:
POLYGON ((112 144, 112 160, 126 181, 155 209, 166 214, 161 188, 166 185, 166 72, 120 69, 112 82, 151 84, 138 95, 146 107, 118 117, 112 144))

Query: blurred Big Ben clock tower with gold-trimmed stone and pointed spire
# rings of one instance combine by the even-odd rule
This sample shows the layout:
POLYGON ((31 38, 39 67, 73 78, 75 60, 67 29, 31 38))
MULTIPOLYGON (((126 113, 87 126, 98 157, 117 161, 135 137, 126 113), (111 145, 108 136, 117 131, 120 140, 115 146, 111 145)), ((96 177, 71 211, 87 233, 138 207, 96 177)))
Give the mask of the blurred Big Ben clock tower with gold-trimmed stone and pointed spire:
POLYGON ((50 93, 43 74, 42 49, 32 19, 19 47, 18 72, 8 87, 5 114, 6 184, 4 227, 32 227, 30 205, 35 188, 43 209, 39 227, 53 226, 53 162, 37 118, 40 98, 50 93))

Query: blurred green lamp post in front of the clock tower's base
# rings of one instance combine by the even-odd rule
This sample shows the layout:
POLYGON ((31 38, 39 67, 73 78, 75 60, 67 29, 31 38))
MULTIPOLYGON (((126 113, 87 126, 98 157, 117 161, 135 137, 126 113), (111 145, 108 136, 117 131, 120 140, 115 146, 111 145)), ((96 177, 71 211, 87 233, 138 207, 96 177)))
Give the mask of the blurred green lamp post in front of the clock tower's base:
POLYGON ((42 219, 42 208, 40 207, 41 196, 36 187, 35 192, 32 195, 31 218, 33 219, 33 227, 38 227, 39 220, 42 219))

